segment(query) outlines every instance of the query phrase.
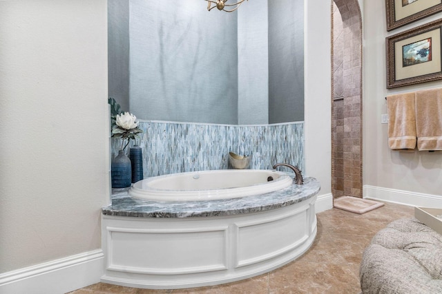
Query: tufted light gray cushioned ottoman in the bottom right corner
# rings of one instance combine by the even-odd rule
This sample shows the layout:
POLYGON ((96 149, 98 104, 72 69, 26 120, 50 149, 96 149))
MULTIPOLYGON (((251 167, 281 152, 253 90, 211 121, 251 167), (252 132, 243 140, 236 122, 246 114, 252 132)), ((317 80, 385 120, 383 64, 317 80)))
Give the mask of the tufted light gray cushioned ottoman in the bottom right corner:
POLYGON ((363 293, 442 293, 442 235, 416 219, 378 231, 363 253, 363 293))

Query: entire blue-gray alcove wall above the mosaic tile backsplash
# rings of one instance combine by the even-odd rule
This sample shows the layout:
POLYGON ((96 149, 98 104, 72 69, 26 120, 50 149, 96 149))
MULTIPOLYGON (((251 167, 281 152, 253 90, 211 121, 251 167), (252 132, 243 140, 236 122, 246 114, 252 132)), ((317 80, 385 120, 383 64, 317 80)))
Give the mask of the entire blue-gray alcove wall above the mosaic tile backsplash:
POLYGON ((199 1, 108 3, 109 96, 122 109, 194 123, 304 120, 302 0, 230 14, 199 1))

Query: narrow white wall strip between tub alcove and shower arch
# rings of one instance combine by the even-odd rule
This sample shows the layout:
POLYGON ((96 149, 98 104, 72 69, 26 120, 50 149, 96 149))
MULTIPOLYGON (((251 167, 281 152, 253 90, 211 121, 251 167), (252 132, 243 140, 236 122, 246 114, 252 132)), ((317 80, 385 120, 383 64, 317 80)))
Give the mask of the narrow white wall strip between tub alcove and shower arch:
MULTIPOLYGON (((305 0, 305 166, 320 181, 319 195, 332 192, 332 3, 305 0)), ((331 207, 329 207, 331 208, 331 207)))

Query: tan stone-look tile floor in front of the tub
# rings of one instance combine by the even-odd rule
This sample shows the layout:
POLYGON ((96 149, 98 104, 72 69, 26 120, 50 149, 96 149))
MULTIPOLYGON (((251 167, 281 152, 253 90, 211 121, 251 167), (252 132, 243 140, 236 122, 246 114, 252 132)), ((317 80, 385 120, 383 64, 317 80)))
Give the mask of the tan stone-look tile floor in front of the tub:
POLYGON ((363 250, 374 234, 399 218, 414 216, 414 208, 385 203, 362 215, 330 209, 317 213, 318 234, 305 255, 269 273, 247 280, 177 290, 148 290, 98 283, 70 294, 295 294, 361 292, 359 264, 363 250))

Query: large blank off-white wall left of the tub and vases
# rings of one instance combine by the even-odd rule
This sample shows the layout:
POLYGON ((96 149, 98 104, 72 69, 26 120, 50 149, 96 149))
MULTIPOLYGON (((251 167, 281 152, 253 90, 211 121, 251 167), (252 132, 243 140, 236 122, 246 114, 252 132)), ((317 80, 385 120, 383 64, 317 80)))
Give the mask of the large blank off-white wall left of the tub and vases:
POLYGON ((100 249, 106 0, 0 1, 0 134, 0 273, 100 249))

